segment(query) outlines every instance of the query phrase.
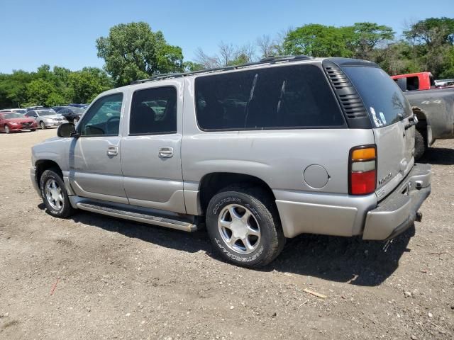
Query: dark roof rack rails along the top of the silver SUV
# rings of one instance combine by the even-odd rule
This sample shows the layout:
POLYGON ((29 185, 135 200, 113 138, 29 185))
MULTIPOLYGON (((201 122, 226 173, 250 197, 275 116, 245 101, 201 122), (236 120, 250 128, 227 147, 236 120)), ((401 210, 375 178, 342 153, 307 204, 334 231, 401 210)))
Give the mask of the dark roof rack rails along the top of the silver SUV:
POLYGON ((241 69, 243 67, 250 67, 250 66, 259 65, 259 64, 275 64, 277 62, 297 62, 300 60, 311 60, 311 59, 314 59, 314 57, 309 57, 308 55, 270 56, 270 57, 261 59, 259 62, 249 62, 247 64, 240 64, 240 65, 235 65, 235 66, 216 67, 214 69, 201 69, 199 71, 191 71, 191 72, 156 74, 155 76, 150 77, 148 79, 140 79, 140 80, 131 81, 131 85, 143 84, 143 83, 146 83, 147 81, 188 77, 188 76, 192 76, 194 74, 231 71, 232 69, 241 69))

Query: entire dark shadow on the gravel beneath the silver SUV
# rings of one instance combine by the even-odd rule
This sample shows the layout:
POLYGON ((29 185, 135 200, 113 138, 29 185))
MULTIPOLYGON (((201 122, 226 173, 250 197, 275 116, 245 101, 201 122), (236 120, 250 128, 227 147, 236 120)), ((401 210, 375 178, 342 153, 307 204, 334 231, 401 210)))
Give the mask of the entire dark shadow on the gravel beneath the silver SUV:
MULTIPOLYGON (((41 204, 39 208, 44 209, 44 205, 41 204)), ((180 232, 84 211, 77 212, 71 218, 74 222, 98 227, 107 232, 118 232, 126 237, 170 249, 189 253, 205 251, 212 258, 223 261, 211 245, 204 229, 192 233, 180 232)), ((275 270, 353 285, 380 285, 397 269, 402 254, 410 251, 407 245, 413 235, 414 227, 396 237, 385 252, 385 242, 365 242, 360 237, 304 234, 288 239, 282 254, 258 271, 275 270)))

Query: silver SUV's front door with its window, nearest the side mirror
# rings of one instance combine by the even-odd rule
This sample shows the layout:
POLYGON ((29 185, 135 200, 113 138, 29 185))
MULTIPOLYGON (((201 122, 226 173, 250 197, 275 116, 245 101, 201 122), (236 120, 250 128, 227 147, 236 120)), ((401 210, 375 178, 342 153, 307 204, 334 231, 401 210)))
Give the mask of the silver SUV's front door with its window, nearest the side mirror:
POLYGON ((70 183, 77 196, 128 203, 121 171, 121 104, 123 94, 92 104, 77 125, 79 138, 70 147, 70 183))

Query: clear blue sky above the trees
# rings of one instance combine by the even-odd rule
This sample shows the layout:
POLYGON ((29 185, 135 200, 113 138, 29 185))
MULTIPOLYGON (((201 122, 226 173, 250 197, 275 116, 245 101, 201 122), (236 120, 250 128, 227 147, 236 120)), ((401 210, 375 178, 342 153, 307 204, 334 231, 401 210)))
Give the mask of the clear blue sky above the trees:
POLYGON ((0 0, 0 13, 0 72, 9 73, 40 64, 102 67, 95 40, 118 23, 146 21, 192 60, 197 47, 213 54, 221 40, 242 45, 306 23, 372 21, 402 33, 411 21, 454 17, 454 0, 0 0))

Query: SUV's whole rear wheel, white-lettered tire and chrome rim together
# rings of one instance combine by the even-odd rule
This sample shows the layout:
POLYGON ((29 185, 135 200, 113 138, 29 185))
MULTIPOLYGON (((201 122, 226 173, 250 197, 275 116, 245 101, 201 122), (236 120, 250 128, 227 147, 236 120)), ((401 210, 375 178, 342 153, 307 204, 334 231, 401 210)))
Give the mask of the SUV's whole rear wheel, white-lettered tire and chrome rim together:
POLYGON ((206 228, 223 259, 238 266, 265 266, 285 244, 276 205, 261 188, 217 193, 208 205, 206 228))

